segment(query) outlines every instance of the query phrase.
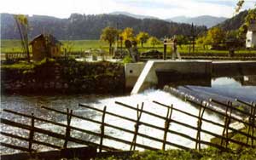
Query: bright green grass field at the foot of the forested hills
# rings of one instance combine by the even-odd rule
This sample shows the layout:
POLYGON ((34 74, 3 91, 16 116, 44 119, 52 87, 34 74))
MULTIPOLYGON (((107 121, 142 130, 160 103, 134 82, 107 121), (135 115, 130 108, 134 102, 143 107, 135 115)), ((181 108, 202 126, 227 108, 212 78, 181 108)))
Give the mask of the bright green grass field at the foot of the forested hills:
MULTIPOLYGON (((73 40, 73 41, 61 41, 63 43, 62 49, 67 48, 70 49, 71 52, 84 52, 88 49, 104 49, 108 52, 108 43, 100 41, 100 40, 73 40)), ((115 44, 113 44, 114 46, 115 44)), ((125 46, 125 45, 123 45, 125 46)), ((138 50, 140 53, 145 52, 147 50, 157 49, 160 52, 163 52, 163 44, 156 45, 154 48, 149 43, 145 43, 142 48, 140 44, 138 44, 138 50)), ((31 47, 30 47, 31 49, 31 47)), ((178 51, 180 53, 189 53, 189 45, 183 45, 182 48, 178 46, 178 51)), ((21 44, 20 40, 1 40, 1 53, 9 53, 9 52, 21 52, 21 44)), ((171 52, 171 46, 167 46, 167 52, 171 52)), ((191 51, 192 52, 192 51, 191 51)), ((210 50, 203 49, 200 45, 195 45, 195 53, 218 53, 218 54, 228 54, 228 50, 210 50)), ((255 50, 239 50, 236 53, 248 53, 248 54, 256 54, 255 50)))

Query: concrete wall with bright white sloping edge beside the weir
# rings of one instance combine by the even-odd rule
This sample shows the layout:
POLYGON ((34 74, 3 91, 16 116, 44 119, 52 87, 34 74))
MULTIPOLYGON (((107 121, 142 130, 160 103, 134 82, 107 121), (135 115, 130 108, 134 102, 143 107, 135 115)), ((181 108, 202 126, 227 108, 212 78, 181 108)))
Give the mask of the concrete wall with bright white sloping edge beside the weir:
POLYGON ((212 61, 212 60, 148 60, 146 64, 126 64, 125 87, 131 94, 158 85, 166 79, 219 77, 242 75, 256 71, 256 61, 212 61), (133 86, 133 87, 132 87, 133 86))

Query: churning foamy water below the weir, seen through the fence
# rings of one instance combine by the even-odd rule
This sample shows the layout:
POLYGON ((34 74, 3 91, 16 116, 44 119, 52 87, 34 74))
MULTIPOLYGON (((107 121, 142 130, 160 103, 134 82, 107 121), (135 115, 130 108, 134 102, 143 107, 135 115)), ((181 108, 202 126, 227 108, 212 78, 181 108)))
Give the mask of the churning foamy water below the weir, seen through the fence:
MULTIPOLYGON (((11 104, 12 100, 16 99, 16 97, 14 98, 10 98, 9 100, 5 100, 3 101, 3 104, 7 107, 9 104, 11 104)), ((26 104, 27 101, 26 100, 30 100, 32 99, 32 101, 37 101, 37 98, 33 97, 33 98, 23 98, 20 97, 20 103, 24 103, 26 104)), ((42 98, 41 98, 42 99, 42 98)), ((137 119, 137 111, 135 110, 131 110, 129 108, 126 108, 125 106, 120 106, 115 104, 115 101, 119 101, 122 102, 126 105, 129 106, 133 106, 134 108, 137 107, 137 104, 139 106, 142 105, 142 103, 144 103, 144 107, 143 107, 143 111, 149 111, 152 112, 154 114, 160 115, 162 117, 166 117, 166 112, 167 112, 167 108, 164 106, 159 106, 155 103, 153 103, 153 100, 158 101, 160 103, 166 104, 168 106, 171 106, 171 104, 173 104, 174 108, 177 108, 179 110, 182 111, 187 111, 195 116, 198 116, 198 112, 199 109, 196 108, 195 106, 191 106, 189 103, 184 102, 183 100, 179 100, 176 97, 172 96, 172 94, 166 93, 164 91, 161 90, 154 90, 154 89, 149 89, 145 92, 143 92, 142 94, 133 94, 133 95, 127 95, 127 96, 121 96, 121 97, 112 97, 112 98, 99 98, 97 100, 95 100, 94 102, 92 102, 91 100, 87 100, 85 97, 83 98, 83 96, 78 97, 55 97, 55 99, 47 98, 44 97, 45 100, 50 100, 52 103, 55 104, 55 106, 50 106, 52 108, 55 108, 59 111, 66 111, 66 106, 71 106, 70 109, 73 109, 73 114, 79 115, 79 116, 83 116, 83 117, 90 117, 92 119, 95 119, 99 122, 102 121, 102 113, 100 112, 96 112, 96 111, 92 111, 90 109, 86 109, 84 107, 79 107, 79 103, 88 105, 88 106, 93 106, 95 108, 98 109, 103 109, 104 106, 107 106, 107 111, 108 112, 113 112, 115 114, 118 114, 120 116, 123 117, 129 117, 132 119, 137 119), (68 104, 67 104, 68 103, 68 104)), ((30 101, 31 102, 31 101, 30 101)), ((43 104, 44 105, 44 104, 43 104)), ((15 105, 13 106, 13 109, 18 108, 17 111, 26 111, 26 113, 28 114, 31 110, 32 107, 29 106, 22 106, 22 105, 15 105)), ((9 109, 12 110, 12 107, 10 107, 9 109)), ((45 111, 41 108, 34 108, 32 110, 35 113, 35 116, 40 116, 43 118, 47 118, 47 119, 51 119, 51 120, 55 120, 56 122, 59 123, 67 123, 66 122, 66 117, 64 115, 60 115, 58 113, 52 112, 52 111, 45 111)), ((2 117, 5 117, 2 115, 2 117)), ((7 116, 8 117, 8 116, 7 116)), ((14 119, 17 122, 20 122, 20 119, 15 119, 13 117, 10 117, 12 119, 14 119)), ((210 114, 209 112, 205 112, 204 113, 204 118, 211 120, 213 122, 216 123, 224 123, 222 119, 220 119, 217 115, 215 114, 210 114)), ((189 117, 181 112, 178 111, 172 111, 172 119, 176 120, 178 122, 181 123, 186 123, 192 126, 197 127, 197 119, 195 117, 189 117)), ((24 123, 29 123, 30 120, 26 120, 24 123)), ((149 123, 149 124, 153 124, 155 126, 164 128, 165 126, 165 121, 163 119, 160 119, 158 117, 153 117, 150 116, 146 113, 142 114, 141 117, 141 122, 143 123, 149 123)), ((113 117, 110 115, 106 115, 105 117, 105 123, 109 123, 112 124, 114 126, 118 126, 124 129, 129 129, 131 131, 134 131, 134 125, 135 123, 121 119, 119 117, 113 117)), ((91 130, 94 131, 96 133, 100 133, 101 129, 100 129, 100 125, 99 124, 95 124, 95 123, 90 123, 84 120, 80 120, 78 118, 73 117, 72 118, 72 122, 71 125, 74 127, 77 127, 79 129, 87 129, 87 130, 91 130)), ((65 134, 65 129, 61 128, 61 127, 57 127, 57 126, 53 126, 53 125, 49 125, 46 123, 37 123, 36 126, 38 126, 39 128, 43 128, 43 129, 48 129, 48 130, 52 130, 56 133, 60 133, 60 134, 65 134)), ((193 129, 188 129, 186 127, 183 127, 181 125, 178 125, 176 123, 171 122, 170 128, 173 131, 177 131, 179 133, 182 134, 187 134, 190 137, 195 138, 197 132, 193 129)), ((211 123, 202 123, 202 129, 211 131, 213 133, 216 134, 221 134, 222 133, 222 129, 212 125, 211 123)), ((9 133, 13 133, 13 134, 23 134, 22 131, 20 131, 20 129, 15 129, 15 128, 10 128, 9 126, 2 126, 1 127, 2 131, 7 131, 9 133)), ((120 131, 118 129, 112 129, 112 128, 105 128, 105 133, 113 136, 115 138, 119 138, 121 140, 127 140, 127 141, 131 141, 133 139, 133 134, 129 134, 123 131, 120 131)), ((158 129, 152 129, 148 126, 144 126, 144 125, 140 125, 139 127, 139 133, 141 134, 147 134, 149 136, 152 136, 154 138, 163 140, 163 136, 164 136, 164 131, 158 130, 158 129)), ((88 134, 83 134, 79 131, 72 131, 71 135, 73 137, 79 138, 81 140, 90 140, 93 141, 97 144, 99 144, 99 138, 96 138, 95 136, 90 136, 88 134)), ((36 134, 37 140, 42 140, 45 142, 50 142, 52 144, 56 144, 58 146, 61 146, 63 144, 63 141, 57 141, 54 139, 50 139, 49 137, 45 136, 45 135, 39 135, 36 134)), ((201 133, 201 140, 206 140, 209 141, 212 138, 212 136, 208 135, 208 134, 204 134, 201 133)), ((16 144, 20 144, 21 146, 26 146, 26 143, 21 143, 21 142, 17 142, 17 140, 9 140, 9 138, 5 137, 1 140, 2 142, 6 142, 6 143, 13 143, 15 142, 16 144)), ((167 141, 175 143, 177 145, 181 145, 181 146, 187 146, 190 148, 195 148, 195 142, 185 139, 183 137, 180 137, 176 134, 167 134, 167 141)), ((162 147, 162 143, 154 141, 154 140, 148 140, 146 138, 137 137, 137 143, 145 145, 145 146, 152 146, 154 148, 159 148, 161 149, 162 147)), ((113 140, 108 140, 108 139, 104 139, 103 140, 103 145, 104 146, 112 146, 118 149, 123 149, 123 150, 129 150, 130 146, 129 145, 125 145, 124 143, 119 143, 113 140)), ((69 142, 68 146, 79 146, 77 144, 73 144, 69 142)), ((46 150, 48 148, 43 147, 43 146, 35 146, 36 149, 42 151, 42 150, 46 150)), ((174 148, 172 146, 168 146, 166 145, 166 149, 168 148, 174 148)), ((137 150, 142 150, 141 148, 136 148, 137 150)), ((8 149, 6 148, 1 148, 1 152, 9 152, 8 149)))

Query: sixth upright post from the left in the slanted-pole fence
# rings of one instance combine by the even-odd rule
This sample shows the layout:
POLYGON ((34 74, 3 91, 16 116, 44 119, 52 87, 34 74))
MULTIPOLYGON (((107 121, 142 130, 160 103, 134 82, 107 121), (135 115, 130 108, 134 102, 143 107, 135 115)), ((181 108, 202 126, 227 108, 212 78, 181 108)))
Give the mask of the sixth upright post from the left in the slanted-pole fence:
POLYGON ((196 134, 197 141, 195 142, 195 150, 197 150, 197 146, 198 146, 198 149, 201 150, 201 124, 202 124, 202 117, 207 107, 207 103, 205 104, 205 107, 203 107, 203 110, 201 111, 202 106, 203 106, 203 101, 201 101, 201 106, 198 114, 197 134, 196 134))

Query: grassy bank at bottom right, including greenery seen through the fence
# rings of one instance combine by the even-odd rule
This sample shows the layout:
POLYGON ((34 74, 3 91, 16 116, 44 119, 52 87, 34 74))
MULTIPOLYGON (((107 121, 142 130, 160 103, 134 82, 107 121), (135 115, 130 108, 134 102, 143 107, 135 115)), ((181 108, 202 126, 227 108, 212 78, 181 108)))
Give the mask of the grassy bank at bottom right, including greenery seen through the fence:
MULTIPOLYGON (((247 128, 241 130, 246 133, 247 128)), ((252 134, 252 129, 249 132, 252 134)), ((254 137, 256 136, 253 133, 254 137)), ((244 143, 251 144, 252 141, 241 134, 230 134, 230 138, 233 140, 241 140, 244 143)), ((216 143, 219 140, 215 139, 216 143)), ((254 140, 254 146, 256 141, 254 140)), ((256 147, 244 147, 239 146, 234 143, 229 143, 228 148, 230 151, 220 151, 217 148, 207 147, 201 151, 190 150, 168 150, 168 151, 137 151, 131 157, 107 157, 107 158, 97 158, 97 160, 120 160, 120 159, 130 159, 130 160, 255 160, 256 159, 256 147)))

